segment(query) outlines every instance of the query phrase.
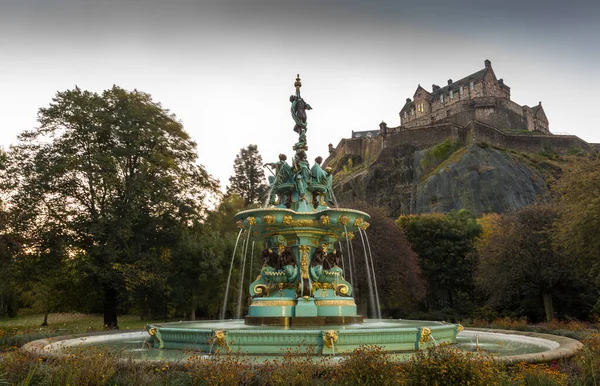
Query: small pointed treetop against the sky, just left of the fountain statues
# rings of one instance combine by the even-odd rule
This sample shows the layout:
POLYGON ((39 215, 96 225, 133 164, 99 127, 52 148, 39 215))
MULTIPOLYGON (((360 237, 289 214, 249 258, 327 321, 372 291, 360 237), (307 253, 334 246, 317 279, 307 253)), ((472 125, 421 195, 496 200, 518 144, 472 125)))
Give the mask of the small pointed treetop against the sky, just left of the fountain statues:
POLYGON ((242 197, 246 205, 261 204, 268 192, 262 162, 256 145, 240 149, 233 161, 234 174, 229 177, 227 193, 242 197))

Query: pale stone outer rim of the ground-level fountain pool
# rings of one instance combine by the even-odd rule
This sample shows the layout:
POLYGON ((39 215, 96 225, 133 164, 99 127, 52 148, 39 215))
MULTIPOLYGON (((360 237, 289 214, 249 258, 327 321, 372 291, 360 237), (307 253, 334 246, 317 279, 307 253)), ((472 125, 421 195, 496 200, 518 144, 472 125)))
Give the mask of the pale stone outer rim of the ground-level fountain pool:
MULTIPOLYGON (((97 331, 91 333, 81 333, 81 334, 68 334, 61 335, 51 338, 38 339, 31 342, 28 342, 21 346, 20 350, 28 352, 30 354, 36 355, 40 358, 60 358, 65 354, 61 353, 57 349, 48 349, 49 345, 55 345, 63 341, 69 340, 82 340, 83 338, 88 337, 97 337, 97 336, 111 336, 111 335, 125 335, 132 333, 144 333, 144 329, 134 329, 127 331, 97 331)), ((517 331, 517 330, 502 330, 502 329, 493 329, 493 328, 465 328, 465 330, 461 333, 476 333, 476 332, 484 332, 493 335, 510 335, 510 336, 527 336, 532 338, 544 339, 551 342, 558 343, 558 347, 552 350, 543 351, 539 353, 531 353, 531 354, 517 354, 517 355, 504 355, 504 356, 492 356, 491 358, 494 361, 503 362, 507 364, 516 364, 516 363, 547 363, 558 359, 570 358, 573 357, 583 348, 583 344, 573 338, 569 338, 561 335, 540 333, 540 332, 530 332, 530 331, 517 331)), ((461 334, 459 333, 459 334, 461 334)), ((101 342, 100 342, 101 345, 101 342)), ((390 355, 394 355, 394 353, 390 353, 390 355)), ((248 357, 252 357, 252 354, 249 354, 248 357)), ((346 355, 340 355, 335 358, 343 358, 346 355)), ((279 358, 278 355, 269 356, 272 359, 279 358)), ((319 356, 325 358, 334 358, 329 356, 319 356)), ((131 358, 120 358, 120 362, 129 363, 131 358)), ((135 359, 135 362, 138 363, 148 363, 154 364, 157 362, 164 362, 164 359, 135 359)), ((182 363, 184 359, 175 359, 169 360, 170 363, 182 363)), ((331 365, 336 364, 337 361, 332 360, 331 365)), ((255 365, 262 365, 264 362, 256 362, 255 365)))

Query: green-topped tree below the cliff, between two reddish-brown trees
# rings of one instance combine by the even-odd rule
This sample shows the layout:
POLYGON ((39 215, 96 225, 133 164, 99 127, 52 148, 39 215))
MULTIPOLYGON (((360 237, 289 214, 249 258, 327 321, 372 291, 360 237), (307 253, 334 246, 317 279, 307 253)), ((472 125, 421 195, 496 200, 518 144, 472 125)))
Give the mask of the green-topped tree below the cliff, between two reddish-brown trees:
POLYGON ((481 226, 469 211, 401 216, 397 224, 419 255, 427 283, 427 310, 469 312, 466 308, 473 305, 475 297, 474 242, 481 234, 481 226))

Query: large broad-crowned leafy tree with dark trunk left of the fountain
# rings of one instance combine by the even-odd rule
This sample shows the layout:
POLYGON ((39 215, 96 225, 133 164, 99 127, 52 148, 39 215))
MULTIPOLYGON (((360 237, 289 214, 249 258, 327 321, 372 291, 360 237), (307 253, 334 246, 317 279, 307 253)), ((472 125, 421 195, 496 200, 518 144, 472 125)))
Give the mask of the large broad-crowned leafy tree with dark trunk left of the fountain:
POLYGON ((12 204, 27 208, 14 226, 59 229, 66 255, 102 293, 105 325, 117 328, 126 273, 156 273, 217 183, 181 123, 146 93, 76 87, 57 93, 38 122, 9 157, 12 204))

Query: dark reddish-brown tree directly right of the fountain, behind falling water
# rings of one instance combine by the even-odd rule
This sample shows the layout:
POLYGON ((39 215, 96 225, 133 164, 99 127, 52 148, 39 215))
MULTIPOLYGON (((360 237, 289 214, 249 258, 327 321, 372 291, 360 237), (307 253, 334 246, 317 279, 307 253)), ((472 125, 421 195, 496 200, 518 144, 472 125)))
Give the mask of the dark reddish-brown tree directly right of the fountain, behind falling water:
MULTIPOLYGON (((352 269, 354 276, 352 284, 355 288, 358 287, 359 300, 363 300, 363 304, 366 305, 365 297, 369 283, 365 266, 365 250, 368 252, 370 249, 382 311, 394 317, 408 314, 423 298, 425 287, 417 257, 411 250, 406 236, 386 216, 384 209, 364 202, 354 202, 349 206, 368 213, 371 220, 365 232, 368 237, 368 240, 365 240, 367 245, 363 247, 361 235, 355 232, 351 243, 354 259, 352 267, 346 267, 345 277, 350 278, 349 271, 352 269)), ((345 257, 348 259, 347 244, 343 241, 340 244, 346 251, 345 257)), ((347 261, 350 264, 350 259, 347 261)))

